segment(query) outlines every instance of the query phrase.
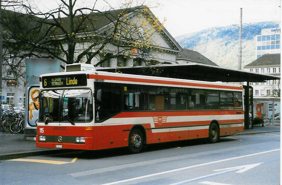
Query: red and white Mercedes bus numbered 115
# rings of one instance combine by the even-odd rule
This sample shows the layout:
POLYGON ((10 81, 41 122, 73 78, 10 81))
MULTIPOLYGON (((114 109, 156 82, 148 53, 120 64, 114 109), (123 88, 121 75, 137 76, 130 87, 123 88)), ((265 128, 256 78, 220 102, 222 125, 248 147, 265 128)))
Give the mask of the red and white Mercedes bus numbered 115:
POLYGON ((138 153, 144 144, 216 143, 244 130, 241 85, 85 69, 40 76, 37 147, 138 153))

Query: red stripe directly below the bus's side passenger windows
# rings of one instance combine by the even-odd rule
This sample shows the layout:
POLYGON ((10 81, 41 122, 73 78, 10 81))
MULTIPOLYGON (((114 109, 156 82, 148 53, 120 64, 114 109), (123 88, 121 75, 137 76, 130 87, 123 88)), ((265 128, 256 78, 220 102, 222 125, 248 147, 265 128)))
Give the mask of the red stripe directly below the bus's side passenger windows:
POLYGON ((204 111, 142 111, 121 112, 112 118, 155 117, 155 116, 192 116, 192 115, 244 115, 242 110, 204 110, 204 111), (238 114, 241 112, 241 114, 238 114))

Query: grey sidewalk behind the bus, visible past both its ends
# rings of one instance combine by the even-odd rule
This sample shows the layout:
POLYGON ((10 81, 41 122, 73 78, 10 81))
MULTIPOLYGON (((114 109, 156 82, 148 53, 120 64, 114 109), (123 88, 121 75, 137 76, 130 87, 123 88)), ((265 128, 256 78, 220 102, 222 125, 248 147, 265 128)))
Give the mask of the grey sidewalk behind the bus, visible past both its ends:
MULTIPOLYGON (((235 135, 258 134, 265 132, 280 132, 280 126, 254 127, 245 129, 235 135)), ((0 132, 0 160, 16 159, 28 156, 63 153, 70 151, 68 149, 46 149, 37 148, 35 141, 25 140, 24 134, 12 134, 0 132)))

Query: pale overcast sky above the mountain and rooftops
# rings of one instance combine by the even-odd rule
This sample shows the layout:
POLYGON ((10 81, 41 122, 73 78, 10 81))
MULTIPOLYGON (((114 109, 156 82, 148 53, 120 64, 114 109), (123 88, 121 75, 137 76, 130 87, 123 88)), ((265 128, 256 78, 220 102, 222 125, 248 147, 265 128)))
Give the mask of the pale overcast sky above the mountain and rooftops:
MULTIPOLYGON (((55 8, 58 0, 35 0, 40 8, 55 8)), ((142 0, 138 0, 141 2, 142 0)), ((94 0, 78 0, 93 6, 94 0)), ((119 7, 123 0, 108 0, 112 7, 119 7)), ((173 36, 197 32, 203 29, 239 24, 240 8, 243 8, 243 23, 280 21, 280 0, 146 0, 145 4, 159 20, 166 18, 165 28, 173 36)), ((103 0, 95 8, 106 10, 103 0)))

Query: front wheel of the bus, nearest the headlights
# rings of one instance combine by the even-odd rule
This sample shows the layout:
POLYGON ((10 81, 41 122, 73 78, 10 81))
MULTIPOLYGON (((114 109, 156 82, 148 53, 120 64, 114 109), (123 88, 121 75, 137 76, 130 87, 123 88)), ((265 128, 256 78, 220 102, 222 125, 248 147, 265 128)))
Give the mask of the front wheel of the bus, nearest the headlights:
POLYGON ((129 134, 129 151, 132 154, 140 153, 143 148, 144 136, 142 132, 133 128, 133 130, 129 134))

